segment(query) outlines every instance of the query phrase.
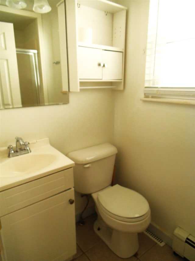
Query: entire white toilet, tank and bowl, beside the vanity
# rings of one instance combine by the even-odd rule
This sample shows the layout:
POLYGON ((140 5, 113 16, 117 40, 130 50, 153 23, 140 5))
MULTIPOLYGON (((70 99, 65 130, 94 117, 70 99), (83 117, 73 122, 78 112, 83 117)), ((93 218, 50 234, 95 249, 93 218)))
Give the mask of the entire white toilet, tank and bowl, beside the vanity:
POLYGON ((138 248, 137 233, 150 224, 147 200, 129 188, 111 186, 117 149, 109 143, 72 151, 67 157, 75 162, 74 187, 91 194, 98 218, 94 231, 119 257, 129 258, 138 248))

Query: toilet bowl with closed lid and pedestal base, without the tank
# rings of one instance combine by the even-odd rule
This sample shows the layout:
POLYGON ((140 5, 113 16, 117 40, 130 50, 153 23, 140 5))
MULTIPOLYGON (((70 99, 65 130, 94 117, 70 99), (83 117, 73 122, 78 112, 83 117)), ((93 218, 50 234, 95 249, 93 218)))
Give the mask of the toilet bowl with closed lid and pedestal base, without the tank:
POLYGON ((98 213, 98 219, 94 223, 95 233, 119 257, 128 258, 134 255, 139 249, 137 233, 143 232, 151 221, 151 212, 146 199, 139 193, 119 185, 109 186, 100 192, 95 192, 92 194, 92 197, 95 202, 96 212, 98 213), (129 203, 132 199, 135 200, 137 196, 138 200, 136 201, 145 205, 141 211, 143 215, 139 216, 139 207, 136 207, 134 204, 132 207, 135 207, 135 209, 129 209, 131 203, 123 202, 124 195, 121 196, 120 192, 133 196, 126 198, 129 200, 129 203), (114 198, 118 197, 118 200, 115 202, 113 199, 110 206, 107 203, 111 200, 112 196, 114 198), (146 213, 144 213, 145 211, 146 213))

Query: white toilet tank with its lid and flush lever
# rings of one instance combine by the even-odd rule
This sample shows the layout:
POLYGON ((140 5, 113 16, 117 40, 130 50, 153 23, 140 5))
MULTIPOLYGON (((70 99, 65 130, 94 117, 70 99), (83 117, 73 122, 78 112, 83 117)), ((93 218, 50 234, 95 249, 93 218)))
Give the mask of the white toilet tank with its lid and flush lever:
POLYGON ((109 143, 69 152, 67 157, 75 162, 75 190, 91 194, 109 186, 112 182, 116 153, 116 147, 109 143))

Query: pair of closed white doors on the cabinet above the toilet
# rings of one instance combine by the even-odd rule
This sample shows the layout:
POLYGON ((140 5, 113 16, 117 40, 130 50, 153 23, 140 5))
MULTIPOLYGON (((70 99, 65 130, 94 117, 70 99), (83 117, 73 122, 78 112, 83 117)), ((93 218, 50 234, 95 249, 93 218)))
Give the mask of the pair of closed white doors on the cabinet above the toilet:
POLYGON ((122 52, 78 47, 80 80, 122 80, 122 52))

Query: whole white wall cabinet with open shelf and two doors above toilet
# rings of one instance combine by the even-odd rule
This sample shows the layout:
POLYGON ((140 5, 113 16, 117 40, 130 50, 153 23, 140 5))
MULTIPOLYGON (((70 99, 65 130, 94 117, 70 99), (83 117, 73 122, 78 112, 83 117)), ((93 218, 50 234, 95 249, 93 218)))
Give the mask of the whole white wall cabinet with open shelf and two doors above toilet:
POLYGON ((69 90, 122 90, 126 7, 107 0, 67 0, 66 24, 69 90))

